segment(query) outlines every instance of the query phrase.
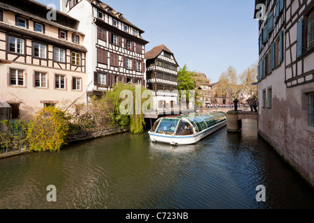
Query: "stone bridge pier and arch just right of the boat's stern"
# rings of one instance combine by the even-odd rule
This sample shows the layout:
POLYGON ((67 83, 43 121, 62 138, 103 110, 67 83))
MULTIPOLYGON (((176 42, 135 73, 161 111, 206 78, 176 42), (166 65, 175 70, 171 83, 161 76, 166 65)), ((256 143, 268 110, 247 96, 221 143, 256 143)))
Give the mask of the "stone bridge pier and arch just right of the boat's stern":
POLYGON ((251 119, 257 121, 258 126, 258 113, 257 112, 244 112, 244 111, 230 111, 227 112, 227 131, 239 132, 242 128, 242 120, 251 119))

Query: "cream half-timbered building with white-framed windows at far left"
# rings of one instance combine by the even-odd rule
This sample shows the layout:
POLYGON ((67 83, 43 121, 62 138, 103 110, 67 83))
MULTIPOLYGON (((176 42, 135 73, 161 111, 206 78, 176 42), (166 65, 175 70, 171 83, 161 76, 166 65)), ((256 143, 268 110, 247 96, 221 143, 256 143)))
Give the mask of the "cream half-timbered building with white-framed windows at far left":
POLYGON ((86 102, 84 34, 77 20, 57 10, 56 20, 48 20, 51 12, 32 0, 0 1, 3 119, 27 119, 45 105, 86 102))

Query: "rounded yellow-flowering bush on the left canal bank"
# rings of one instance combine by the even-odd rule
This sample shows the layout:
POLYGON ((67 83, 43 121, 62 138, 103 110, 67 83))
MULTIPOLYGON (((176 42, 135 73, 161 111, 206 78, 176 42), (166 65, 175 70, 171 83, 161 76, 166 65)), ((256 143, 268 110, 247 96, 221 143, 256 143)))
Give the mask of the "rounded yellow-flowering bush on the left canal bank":
POLYGON ((55 107, 41 109, 27 130, 31 151, 59 151, 68 132, 65 112, 55 107))

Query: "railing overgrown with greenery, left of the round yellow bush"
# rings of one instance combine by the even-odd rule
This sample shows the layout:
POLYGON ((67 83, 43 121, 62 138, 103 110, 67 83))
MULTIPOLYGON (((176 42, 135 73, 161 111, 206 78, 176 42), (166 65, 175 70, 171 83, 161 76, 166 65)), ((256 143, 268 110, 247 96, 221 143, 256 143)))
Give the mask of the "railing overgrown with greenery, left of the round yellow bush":
POLYGON ((0 121, 0 155, 22 151, 26 132, 20 120, 0 121))

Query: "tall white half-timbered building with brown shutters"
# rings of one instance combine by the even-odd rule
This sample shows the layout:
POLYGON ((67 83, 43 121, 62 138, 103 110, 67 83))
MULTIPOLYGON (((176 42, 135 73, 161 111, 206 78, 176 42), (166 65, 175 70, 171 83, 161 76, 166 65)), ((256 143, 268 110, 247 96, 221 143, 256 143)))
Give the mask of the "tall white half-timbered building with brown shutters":
POLYGON ((102 95, 118 82, 146 85, 140 28, 98 0, 60 0, 61 11, 80 21, 87 48, 87 95, 102 95))

